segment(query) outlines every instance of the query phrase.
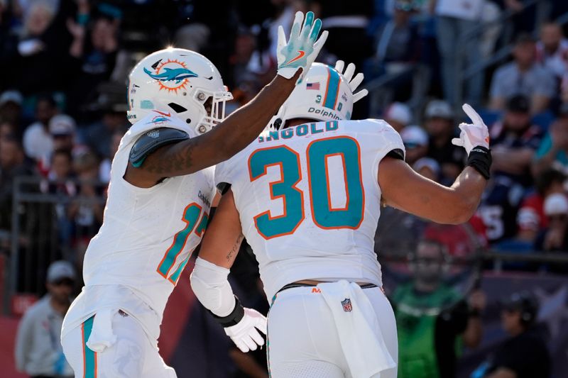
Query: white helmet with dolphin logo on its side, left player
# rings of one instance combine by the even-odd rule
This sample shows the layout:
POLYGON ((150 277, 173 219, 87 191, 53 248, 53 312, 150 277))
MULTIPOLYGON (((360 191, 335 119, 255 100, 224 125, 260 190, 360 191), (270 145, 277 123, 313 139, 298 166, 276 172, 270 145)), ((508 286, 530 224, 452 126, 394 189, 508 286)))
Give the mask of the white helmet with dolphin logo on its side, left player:
POLYGON ((127 113, 131 123, 153 110, 173 112, 197 134, 203 134, 224 119, 225 102, 231 99, 213 63, 191 50, 153 52, 129 74, 127 113), (208 111, 205 106, 209 104, 208 111))

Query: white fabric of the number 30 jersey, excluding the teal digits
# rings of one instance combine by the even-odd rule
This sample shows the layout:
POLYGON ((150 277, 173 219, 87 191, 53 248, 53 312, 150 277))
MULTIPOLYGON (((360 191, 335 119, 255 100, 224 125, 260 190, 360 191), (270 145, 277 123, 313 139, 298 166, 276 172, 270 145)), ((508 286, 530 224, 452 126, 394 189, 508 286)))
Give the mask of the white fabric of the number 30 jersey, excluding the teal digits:
MULTIPOLYGON (((215 182, 231 184, 243 233, 258 260, 267 298, 272 298, 286 284, 301 279, 346 279, 382 286, 381 266, 374 252, 374 236, 381 215, 378 164, 388 152, 397 149, 404 151, 403 142, 385 121, 320 122, 267 132, 230 160, 217 165, 215 182), (302 135, 306 129, 307 133, 302 135), (278 140, 271 134, 278 134, 278 140), (287 135, 292 136, 287 138, 287 135), (356 158, 360 160, 364 211, 356 228, 322 228, 317 226, 313 218, 307 179, 310 174, 307 169, 307 148, 315 141, 337 138, 356 140, 359 146, 359 157, 356 158), (285 214, 283 197, 273 196, 271 192, 271 183, 283 179, 283 168, 280 168, 281 165, 267 166, 266 174, 251 181, 249 160, 256 150, 278 146, 293 150, 300 161, 300 180, 295 188, 302 191, 304 218, 293 233, 267 239, 258 233, 254 218, 266 211, 270 211, 273 218, 285 214)), ((347 206, 348 201, 356 201, 353 194, 351 199, 346 198, 344 164, 342 166, 341 156, 329 156, 326 160, 327 180, 333 183, 329 188, 333 209, 347 206)), ((315 197, 314 200, 318 199, 315 197)))

